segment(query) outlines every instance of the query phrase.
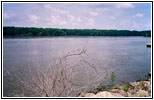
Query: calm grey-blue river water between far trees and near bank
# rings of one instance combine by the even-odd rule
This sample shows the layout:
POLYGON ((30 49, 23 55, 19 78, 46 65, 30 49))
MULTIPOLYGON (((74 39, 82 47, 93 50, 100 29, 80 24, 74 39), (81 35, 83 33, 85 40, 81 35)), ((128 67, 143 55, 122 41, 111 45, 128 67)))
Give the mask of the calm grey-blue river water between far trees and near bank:
POLYGON ((22 92, 19 81, 12 79, 11 76, 18 75, 24 79, 28 76, 30 67, 47 69, 56 64, 56 59, 68 52, 80 52, 83 48, 87 50, 86 54, 83 54, 84 60, 97 71, 84 63, 75 66, 74 63, 79 62, 80 57, 71 58, 68 63, 74 64, 76 67, 74 73, 78 73, 75 74, 74 84, 86 85, 100 77, 103 80, 106 75, 104 68, 108 73, 107 79, 102 81, 104 85, 110 84, 111 72, 116 76, 115 84, 136 81, 150 71, 151 48, 146 47, 146 43, 150 42, 151 38, 148 37, 3 39, 3 95, 14 96, 22 92))

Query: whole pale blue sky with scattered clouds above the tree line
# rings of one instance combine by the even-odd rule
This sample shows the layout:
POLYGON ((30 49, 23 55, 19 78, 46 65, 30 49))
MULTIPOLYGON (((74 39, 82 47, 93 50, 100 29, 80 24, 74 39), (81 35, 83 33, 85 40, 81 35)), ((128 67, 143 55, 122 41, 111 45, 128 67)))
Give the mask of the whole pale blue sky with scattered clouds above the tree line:
POLYGON ((151 30, 151 3, 3 3, 3 26, 151 30))

